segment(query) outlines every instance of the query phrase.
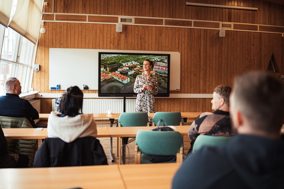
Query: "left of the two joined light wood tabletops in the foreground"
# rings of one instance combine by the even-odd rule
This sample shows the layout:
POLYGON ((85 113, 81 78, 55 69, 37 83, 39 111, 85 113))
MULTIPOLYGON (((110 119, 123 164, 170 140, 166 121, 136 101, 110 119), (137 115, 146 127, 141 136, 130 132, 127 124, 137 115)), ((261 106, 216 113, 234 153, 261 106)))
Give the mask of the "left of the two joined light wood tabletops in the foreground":
POLYGON ((0 188, 125 188, 118 165, 0 169, 0 188))

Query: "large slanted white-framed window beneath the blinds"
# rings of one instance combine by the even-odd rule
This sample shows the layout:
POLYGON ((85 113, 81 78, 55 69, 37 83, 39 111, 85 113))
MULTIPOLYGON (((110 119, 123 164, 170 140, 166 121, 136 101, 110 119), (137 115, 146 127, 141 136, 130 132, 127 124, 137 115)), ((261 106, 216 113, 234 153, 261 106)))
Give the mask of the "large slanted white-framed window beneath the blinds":
POLYGON ((35 45, 16 31, 0 24, 1 60, 0 95, 6 93, 4 82, 9 77, 17 77, 22 92, 28 91, 29 74, 35 45))

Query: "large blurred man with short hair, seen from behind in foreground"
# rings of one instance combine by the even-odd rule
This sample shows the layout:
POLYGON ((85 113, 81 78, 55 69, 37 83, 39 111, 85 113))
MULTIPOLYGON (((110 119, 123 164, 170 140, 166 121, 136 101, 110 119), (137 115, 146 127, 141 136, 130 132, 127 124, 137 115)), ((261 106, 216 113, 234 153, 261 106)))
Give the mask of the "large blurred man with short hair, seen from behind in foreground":
POLYGON ((230 115, 238 132, 228 144, 187 156, 172 188, 284 188, 284 85, 265 72, 236 78, 230 115))

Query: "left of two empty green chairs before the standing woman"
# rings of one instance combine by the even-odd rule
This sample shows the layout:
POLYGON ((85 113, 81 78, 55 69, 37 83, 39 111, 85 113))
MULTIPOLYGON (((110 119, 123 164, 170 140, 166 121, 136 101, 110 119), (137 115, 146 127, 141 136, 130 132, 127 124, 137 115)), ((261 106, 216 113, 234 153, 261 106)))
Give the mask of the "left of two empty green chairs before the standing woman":
MULTIPOLYGON (((147 112, 123 112, 118 118, 119 127, 139 127, 139 126, 149 126, 148 113, 147 112)), ((134 139, 135 140, 135 139, 134 139)), ((119 164, 121 160, 123 164, 125 163, 125 145, 128 143, 128 138, 122 139, 122 145, 120 137, 117 138, 119 151, 119 164), (121 148, 123 151, 123 156, 121 156, 121 148)), ((129 142, 132 142, 129 141, 129 142)))

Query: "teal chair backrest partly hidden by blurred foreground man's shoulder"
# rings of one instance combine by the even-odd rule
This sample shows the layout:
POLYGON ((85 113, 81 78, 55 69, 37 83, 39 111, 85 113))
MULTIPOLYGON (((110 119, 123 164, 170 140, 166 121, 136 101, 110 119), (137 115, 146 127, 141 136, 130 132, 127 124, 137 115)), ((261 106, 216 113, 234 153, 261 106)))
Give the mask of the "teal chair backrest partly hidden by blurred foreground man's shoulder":
POLYGON ((203 146, 215 147, 222 144, 227 144, 232 140, 234 136, 209 136, 209 135, 198 135, 194 144, 193 152, 196 152, 203 146))

